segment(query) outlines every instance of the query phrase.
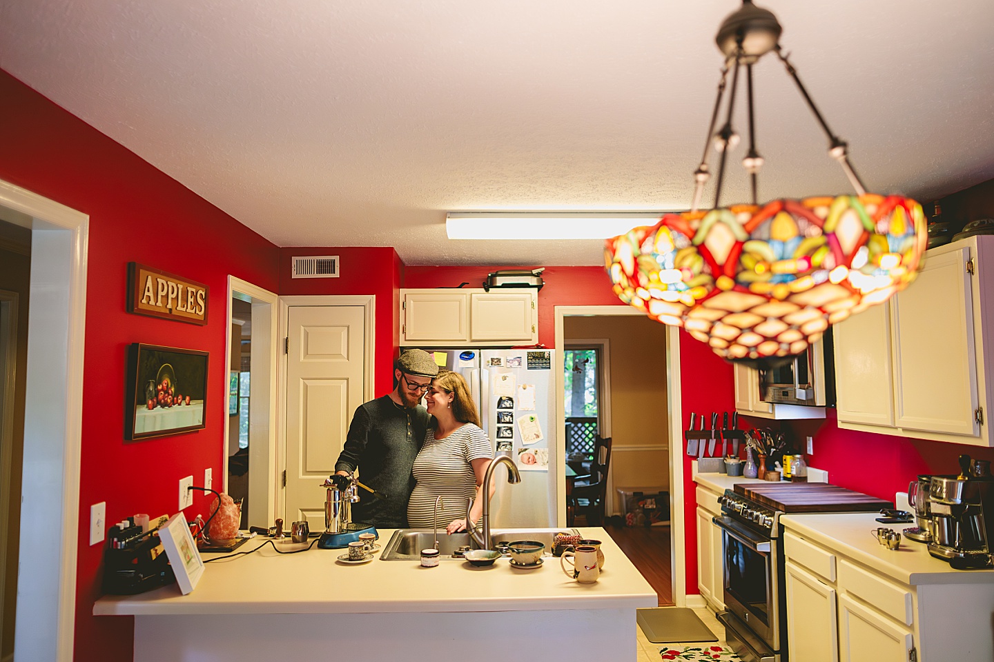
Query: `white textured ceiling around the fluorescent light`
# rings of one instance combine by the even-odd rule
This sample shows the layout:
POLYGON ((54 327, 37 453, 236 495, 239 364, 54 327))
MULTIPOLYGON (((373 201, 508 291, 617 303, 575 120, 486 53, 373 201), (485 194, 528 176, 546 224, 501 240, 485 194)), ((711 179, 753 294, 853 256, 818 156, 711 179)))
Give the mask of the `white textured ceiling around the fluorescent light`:
MULTIPOLYGON (((994 2, 759 4, 872 191, 994 178, 994 2)), ((449 241, 445 211, 687 207, 738 6, 9 1, 0 67, 281 246, 600 264, 599 241, 449 241)), ((850 192, 782 66, 755 68, 759 198, 850 192)))

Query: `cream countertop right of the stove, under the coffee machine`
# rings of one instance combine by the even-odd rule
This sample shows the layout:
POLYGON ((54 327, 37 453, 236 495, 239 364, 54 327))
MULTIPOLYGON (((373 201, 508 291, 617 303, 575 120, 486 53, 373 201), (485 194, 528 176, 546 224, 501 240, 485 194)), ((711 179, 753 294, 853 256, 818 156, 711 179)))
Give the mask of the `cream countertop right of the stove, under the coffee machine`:
POLYGON ((880 513, 825 513, 781 515, 788 531, 862 563, 907 585, 994 584, 994 570, 953 570, 949 564, 928 554, 927 545, 907 538, 901 547, 889 550, 870 531, 885 526, 902 531, 913 524, 881 524, 880 513))

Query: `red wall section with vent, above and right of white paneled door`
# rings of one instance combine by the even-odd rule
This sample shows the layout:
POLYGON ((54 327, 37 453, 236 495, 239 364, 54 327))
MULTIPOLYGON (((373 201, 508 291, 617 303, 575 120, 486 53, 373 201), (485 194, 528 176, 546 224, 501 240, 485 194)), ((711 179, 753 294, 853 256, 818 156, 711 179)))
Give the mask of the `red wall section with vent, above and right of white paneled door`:
MULTIPOLYGON (((376 394, 394 388, 394 359, 400 339, 398 324, 401 278, 404 263, 390 246, 315 247, 279 249, 279 294, 287 295, 375 295, 376 296, 376 394), (294 257, 338 255, 338 278, 291 278, 294 257)), ((349 412, 352 416, 352 412, 349 412)))

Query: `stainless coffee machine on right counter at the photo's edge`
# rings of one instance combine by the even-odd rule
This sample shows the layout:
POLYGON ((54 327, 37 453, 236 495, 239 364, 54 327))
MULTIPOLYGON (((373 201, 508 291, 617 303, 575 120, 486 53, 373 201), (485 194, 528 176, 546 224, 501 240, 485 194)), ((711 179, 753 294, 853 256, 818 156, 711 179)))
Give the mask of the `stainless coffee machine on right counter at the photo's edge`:
POLYGON ((928 553, 958 570, 992 568, 994 480, 985 469, 989 464, 960 456, 959 465, 959 475, 929 479, 928 553))

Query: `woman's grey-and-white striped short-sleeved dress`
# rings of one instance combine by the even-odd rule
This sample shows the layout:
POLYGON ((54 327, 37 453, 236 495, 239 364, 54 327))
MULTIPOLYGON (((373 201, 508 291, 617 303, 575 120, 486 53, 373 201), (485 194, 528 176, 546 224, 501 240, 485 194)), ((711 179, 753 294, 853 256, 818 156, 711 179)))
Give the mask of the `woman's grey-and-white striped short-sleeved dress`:
POLYGON ((429 428, 414 460, 414 492, 408 503, 408 523, 413 527, 430 527, 435 498, 440 494, 443 507, 438 509, 438 526, 466 516, 466 502, 476 492, 473 460, 493 459, 487 434, 472 423, 465 423, 444 439, 434 438, 429 428))

